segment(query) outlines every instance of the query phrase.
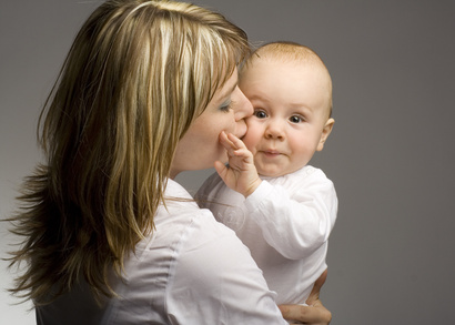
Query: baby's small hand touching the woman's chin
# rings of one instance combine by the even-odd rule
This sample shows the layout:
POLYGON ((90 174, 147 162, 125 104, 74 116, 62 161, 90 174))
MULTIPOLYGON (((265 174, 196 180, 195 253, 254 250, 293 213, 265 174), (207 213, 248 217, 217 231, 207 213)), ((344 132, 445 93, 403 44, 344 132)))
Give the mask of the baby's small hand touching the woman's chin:
POLYGON ((216 172, 230 189, 249 196, 262 182, 254 166, 253 154, 242 140, 231 133, 221 132, 220 143, 228 151, 229 165, 216 161, 216 172))

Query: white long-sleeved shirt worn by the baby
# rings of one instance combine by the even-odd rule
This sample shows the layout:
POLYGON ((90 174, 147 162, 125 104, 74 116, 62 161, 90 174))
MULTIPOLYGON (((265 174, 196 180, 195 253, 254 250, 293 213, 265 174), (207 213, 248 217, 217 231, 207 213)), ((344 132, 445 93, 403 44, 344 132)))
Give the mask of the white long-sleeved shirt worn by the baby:
POLYGON ((327 267, 327 240, 337 212, 334 185, 321 170, 304 166, 263 177, 246 199, 215 173, 196 199, 250 248, 269 287, 277 293, 277 304, 305 303, 327 267))

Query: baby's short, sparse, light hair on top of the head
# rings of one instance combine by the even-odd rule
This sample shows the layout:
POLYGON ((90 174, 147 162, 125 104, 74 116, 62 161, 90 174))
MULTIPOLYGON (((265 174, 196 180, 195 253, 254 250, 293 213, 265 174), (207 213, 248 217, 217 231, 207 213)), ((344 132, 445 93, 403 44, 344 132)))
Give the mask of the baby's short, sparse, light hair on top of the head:
POLYGON ((327 95, 328 95, 328 118, 332 116, 333 100, 332 100, 332 79, 327 67, 317 53, 309 47, 291 42, 291 41, 276 41, 270 42, 257 48, 249 60, 243 64, 240 75, 246 72, 249 65, 254 63, 256 59, 271 59, 280 61, 291 61, 303 64, 314 64, 325 70, 327 74, 327 95))

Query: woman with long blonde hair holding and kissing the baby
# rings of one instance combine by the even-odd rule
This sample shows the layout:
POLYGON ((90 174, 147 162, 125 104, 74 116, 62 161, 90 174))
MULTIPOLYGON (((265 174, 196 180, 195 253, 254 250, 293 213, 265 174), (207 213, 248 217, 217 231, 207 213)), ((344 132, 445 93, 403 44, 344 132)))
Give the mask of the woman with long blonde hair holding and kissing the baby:
MULTIPOLYGON (((246 248, 172 180, 225 161, 222 131, 245 133, 247 54, 241 29, 189 3, 112 0, 83 24, 12 219, 13 292, 38 324, 287 324, 246 248)), ((283 313, 330 321, 317 299, 283 313)))

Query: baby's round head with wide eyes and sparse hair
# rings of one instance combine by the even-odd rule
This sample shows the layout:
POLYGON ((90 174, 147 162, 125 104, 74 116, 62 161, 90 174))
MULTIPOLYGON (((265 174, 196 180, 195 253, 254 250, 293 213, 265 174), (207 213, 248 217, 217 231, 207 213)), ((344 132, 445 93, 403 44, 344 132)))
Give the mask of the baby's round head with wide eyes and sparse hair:
POLYGON ((306 165, 332 131, 332 80, 321 58, 291 42, 260 48, 240 72, 254 108, 243 139, 257 172, 282 176, 306 165))

